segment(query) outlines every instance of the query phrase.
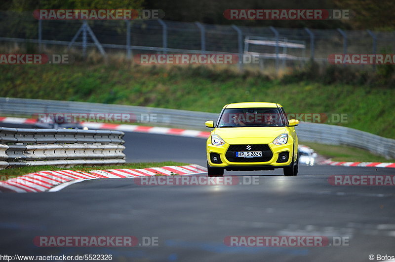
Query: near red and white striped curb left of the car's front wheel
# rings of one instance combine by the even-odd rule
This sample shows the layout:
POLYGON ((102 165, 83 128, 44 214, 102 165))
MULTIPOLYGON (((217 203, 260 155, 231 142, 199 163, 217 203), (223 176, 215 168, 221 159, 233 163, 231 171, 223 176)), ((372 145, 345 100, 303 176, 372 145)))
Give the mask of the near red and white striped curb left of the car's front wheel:
POLYGON ((119 168, 107 170, 92 170, 89 172, 58 170, 39 171, 10 178, 0 182, 0 192, 37 193, 55 192, 71 184, 89 179, 100 178, 133 178, 155 175, 192 175, 207 172, 207 168, 197 165, 168 165, 149 168, 119 168))

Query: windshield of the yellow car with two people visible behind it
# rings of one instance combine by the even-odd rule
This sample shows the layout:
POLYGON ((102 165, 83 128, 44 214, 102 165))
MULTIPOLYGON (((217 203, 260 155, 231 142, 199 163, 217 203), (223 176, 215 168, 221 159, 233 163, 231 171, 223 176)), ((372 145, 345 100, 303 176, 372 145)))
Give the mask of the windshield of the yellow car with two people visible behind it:
POLYGON ((278 108, 229 108, 223 111, 218 127, 284 127, 285 121, 278 108))

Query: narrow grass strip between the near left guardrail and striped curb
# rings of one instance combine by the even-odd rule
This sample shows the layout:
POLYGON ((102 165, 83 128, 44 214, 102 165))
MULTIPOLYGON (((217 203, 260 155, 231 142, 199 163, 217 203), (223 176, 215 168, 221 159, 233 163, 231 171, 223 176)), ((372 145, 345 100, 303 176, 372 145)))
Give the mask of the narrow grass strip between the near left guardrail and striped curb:
POLYGON ((116 168, 147 168, 147 167, 159 167, 165 165, 188 165, 187 163, 180 162, 144 162, 144 163, 127 163, 122 165, 96 165, 96 166, 74 166, 74 167, 56 167, 52 165, 39 165, 39 166, 22 166, 16 168, 6 168, 0 170, 1 181, 6 179, 17 177, 20 175, 44 171, 44 170, 80 170, 80 171, 91 171, 91 170, 104 170, 104 169, 116 169, 116 168))

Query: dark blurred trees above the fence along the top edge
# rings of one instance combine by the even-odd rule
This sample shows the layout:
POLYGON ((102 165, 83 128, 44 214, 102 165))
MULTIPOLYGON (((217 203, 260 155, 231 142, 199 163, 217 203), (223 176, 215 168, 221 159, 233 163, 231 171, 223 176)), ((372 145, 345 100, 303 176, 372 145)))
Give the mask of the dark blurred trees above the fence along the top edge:
POLYGON ((393 31, 395 28, 393 0, 1 0, 0 10, 32 11, 38 8, 147 8, 162 9, 171 21, 207 24, 243 25, 315 29, 374 29, 393 31), (223 12, 229 8, 348 9, 355 17, 345 20, 227 20, 223 12))

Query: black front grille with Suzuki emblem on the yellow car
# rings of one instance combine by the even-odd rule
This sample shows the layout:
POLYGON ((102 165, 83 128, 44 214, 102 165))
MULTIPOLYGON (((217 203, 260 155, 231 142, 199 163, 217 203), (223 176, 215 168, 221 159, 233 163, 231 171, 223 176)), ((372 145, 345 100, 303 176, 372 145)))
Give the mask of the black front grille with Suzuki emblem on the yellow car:
POLYGON ((228 151, 226 151, 225 157, 229 162, 237 162, 237 163, 268 162, 272 159, 273 153, 272 150, 270 150, 269 145, 267 144, 230 145, 228 151), (251 149, 248 150, 247 146, 250 146, 251 149), (237 158, 236 157, 237 151, 262 151, 263 157, 237 158))

